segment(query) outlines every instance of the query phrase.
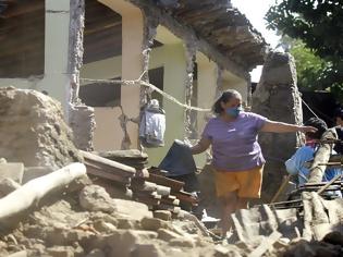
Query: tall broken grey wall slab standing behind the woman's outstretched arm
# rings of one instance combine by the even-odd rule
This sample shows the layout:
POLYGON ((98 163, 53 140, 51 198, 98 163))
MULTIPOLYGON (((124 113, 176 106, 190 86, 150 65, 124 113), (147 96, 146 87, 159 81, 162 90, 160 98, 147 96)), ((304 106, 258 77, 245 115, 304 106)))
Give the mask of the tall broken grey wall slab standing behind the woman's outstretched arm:
MULTIPOLYGON (((303 122, 295 62, 290 53, 271 51, 267 56, 260 82, 253 94, 253 111, 274 121, 292 124, 303 122)), ((294 154, 301 137, 296 133, 261 133, 259 143, 267 160, 262 200, 269 201, 282 183, 284 161, 294 154)))

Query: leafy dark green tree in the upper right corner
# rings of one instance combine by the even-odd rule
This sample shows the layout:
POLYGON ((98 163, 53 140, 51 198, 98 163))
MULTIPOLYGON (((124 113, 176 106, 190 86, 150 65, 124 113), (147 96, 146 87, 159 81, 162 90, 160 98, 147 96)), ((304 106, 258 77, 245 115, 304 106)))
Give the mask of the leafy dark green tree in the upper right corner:
POLYGON ((308 73, 308 69, 301 71, 299 81, 314 82, 310 76, 316 75, 316 86, 313 89, 330 90, 340 95, 338 99, 343 101, 343 8, 341 0, 281 0, 269 9, 266 20, 268 28, 302 40, 306 48, 324 63, 320 64, 317 75, 308 73))

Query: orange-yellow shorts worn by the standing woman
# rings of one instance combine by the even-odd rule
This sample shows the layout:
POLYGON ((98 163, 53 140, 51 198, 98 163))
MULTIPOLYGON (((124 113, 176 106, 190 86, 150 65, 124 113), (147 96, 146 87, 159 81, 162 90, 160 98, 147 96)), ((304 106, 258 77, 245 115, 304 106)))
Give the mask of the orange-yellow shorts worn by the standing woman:
POLYGON ((246 171, 217 171, 215 181, 217 196, 237 191, 242 198, 260 198, 262 186, 264 166, 246 171))

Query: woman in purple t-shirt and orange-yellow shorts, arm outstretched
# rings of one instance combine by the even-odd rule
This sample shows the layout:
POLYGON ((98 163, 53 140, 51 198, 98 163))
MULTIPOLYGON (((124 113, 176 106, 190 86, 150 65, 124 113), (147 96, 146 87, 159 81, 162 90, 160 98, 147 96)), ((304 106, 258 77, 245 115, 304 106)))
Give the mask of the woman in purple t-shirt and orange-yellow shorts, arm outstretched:
POLYGON ((223 236, 231 228, 230 215, 247 208, 248 200, 259 198, 265 159, 257 142, 259 132, 315 132, 313 126, 277 122, 242 110, 242 96, 229 89, 212 108, 216 117, 206 124, 200 140, 191 147, 192 154, 212 147, 216 189, 221 203, 223 236))

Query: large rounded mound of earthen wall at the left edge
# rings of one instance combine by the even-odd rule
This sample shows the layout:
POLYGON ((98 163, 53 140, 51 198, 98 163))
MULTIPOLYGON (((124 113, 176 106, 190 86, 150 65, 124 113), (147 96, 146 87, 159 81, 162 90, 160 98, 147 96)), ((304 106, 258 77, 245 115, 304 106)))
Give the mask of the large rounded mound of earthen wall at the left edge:
POLYGON ((61 105, 30 89, 0 88, 0 157, 25 167, 61 168, 82 157, 61 105))

